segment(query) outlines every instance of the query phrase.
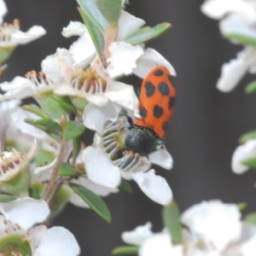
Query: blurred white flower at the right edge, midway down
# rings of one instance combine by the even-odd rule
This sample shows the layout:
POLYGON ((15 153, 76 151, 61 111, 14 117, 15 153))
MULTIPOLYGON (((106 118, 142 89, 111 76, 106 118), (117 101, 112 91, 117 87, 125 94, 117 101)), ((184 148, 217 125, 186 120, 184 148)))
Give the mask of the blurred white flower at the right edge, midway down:
POLYGON ((236 148, 231 160, 233 172, 241 174, 249 170, 249 167, 243 165, 242 161, 250 158, 256 158, 256 139, 248 140, 236 148))

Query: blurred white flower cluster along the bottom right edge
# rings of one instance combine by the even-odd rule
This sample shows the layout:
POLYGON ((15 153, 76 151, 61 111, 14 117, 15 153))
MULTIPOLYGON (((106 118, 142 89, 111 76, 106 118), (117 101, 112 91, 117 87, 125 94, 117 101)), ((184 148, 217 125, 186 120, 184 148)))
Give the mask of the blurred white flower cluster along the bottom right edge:
POLYGON ((240 218, 235 204, 203 201, 183 212, 181 222, 188 229, 183 229, 181 244, 173 244, 166 229, 153 233, 151 224, 124 232, 122 239, 137 245, 139 256, 249 256, 253 252, 249 250, 256 239, 256 227, 240 218))

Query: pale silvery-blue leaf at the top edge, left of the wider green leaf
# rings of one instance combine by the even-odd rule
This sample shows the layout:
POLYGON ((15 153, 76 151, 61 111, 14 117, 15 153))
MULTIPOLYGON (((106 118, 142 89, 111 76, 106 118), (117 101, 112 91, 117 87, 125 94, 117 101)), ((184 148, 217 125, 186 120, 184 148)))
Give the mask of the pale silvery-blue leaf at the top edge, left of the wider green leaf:
POLYGON ((88 19, 91 20, 91 23, 97 27, 97 30, 99 30, 100 32, 102 32, 102 34, 104 34, 104 32, 108 28, 108 21, 103 17, 100 10, 96 6, 96 1, 95 0, 77 0, 77 1, 81 9, 83 9, 84 15, 86 15, 88 19))

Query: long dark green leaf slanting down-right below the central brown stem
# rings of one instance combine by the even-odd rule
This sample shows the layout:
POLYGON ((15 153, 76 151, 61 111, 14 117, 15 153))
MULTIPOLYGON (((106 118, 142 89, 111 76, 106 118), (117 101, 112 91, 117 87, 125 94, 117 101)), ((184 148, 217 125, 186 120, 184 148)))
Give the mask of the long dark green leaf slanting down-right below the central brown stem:
POLYGON ((111 222, 111 214, 102 198, 78 184, 70 183, 70 188, 79 195, 88 206, 108 223, 111 222))

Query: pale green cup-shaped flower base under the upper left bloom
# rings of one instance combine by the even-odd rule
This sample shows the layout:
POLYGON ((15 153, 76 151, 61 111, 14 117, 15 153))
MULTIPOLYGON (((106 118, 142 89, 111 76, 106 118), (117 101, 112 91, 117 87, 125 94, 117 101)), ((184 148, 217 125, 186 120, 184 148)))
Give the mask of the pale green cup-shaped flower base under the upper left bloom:
POLYGON ((52 119, 60 120, 61 115, 63 114, 68 117, 69 111, 67 111, 66 108, 63 108, 59 102, 56 102, 52 96, 52 92, 46 92, 36 96, 35 100, 52 119))

